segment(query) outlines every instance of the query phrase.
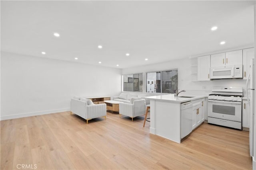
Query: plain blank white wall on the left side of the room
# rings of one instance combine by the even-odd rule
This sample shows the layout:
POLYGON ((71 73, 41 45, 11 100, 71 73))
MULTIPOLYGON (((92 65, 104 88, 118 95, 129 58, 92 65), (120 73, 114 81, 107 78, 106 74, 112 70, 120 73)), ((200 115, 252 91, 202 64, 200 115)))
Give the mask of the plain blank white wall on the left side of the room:
POLYGON ((1 52, 1 120, 70 110, 70 98, 118 96, 121 70, 1 52))

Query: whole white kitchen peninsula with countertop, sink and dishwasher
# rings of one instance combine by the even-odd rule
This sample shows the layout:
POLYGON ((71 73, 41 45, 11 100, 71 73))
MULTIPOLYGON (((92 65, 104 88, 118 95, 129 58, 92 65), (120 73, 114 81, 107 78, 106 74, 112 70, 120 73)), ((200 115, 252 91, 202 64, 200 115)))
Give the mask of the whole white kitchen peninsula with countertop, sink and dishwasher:
POLYGON ((206 97, 175 94, 146 97, 150 99, 150 133, 180 143, 204 121, 206 97))

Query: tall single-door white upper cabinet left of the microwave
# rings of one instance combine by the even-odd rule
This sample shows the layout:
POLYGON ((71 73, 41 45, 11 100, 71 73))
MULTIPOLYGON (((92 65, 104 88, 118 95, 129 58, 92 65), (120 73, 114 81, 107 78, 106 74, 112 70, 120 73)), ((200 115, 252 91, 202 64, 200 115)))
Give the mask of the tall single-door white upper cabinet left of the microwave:
POLYGON ((198 63, 198 81, 210 80, 210 55, 197 57, 198 63))

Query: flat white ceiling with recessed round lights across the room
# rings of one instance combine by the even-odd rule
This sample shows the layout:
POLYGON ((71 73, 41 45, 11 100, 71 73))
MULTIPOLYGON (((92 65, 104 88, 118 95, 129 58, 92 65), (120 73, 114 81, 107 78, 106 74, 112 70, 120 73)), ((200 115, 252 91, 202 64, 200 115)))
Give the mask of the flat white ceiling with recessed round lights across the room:
POLYGON ((253 45, 254 3, 1 1, 1 51, 114 68, 160 63, 253 45))

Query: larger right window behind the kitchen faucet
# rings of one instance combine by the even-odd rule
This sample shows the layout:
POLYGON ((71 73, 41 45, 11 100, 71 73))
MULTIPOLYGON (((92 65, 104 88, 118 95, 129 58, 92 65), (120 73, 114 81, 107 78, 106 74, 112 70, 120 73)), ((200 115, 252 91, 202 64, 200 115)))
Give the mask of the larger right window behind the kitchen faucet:
POLYGON ((148 72, 148 93, 175 93, 178 89, 178 69, 148 72))

